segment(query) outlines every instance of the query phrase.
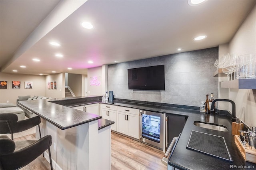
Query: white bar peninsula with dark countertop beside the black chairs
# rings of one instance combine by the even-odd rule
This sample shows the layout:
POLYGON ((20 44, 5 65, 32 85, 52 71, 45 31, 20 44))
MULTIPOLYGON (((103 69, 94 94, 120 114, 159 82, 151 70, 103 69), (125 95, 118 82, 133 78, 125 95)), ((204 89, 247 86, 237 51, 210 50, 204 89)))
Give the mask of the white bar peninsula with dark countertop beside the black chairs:
MULTIPOLYGON (((20 101, 18 107, 41 117, 42 136, 52 136, 51 156, 55 170, 110 169, 113 121, 48 100, 20 101)), ((49 160, 48 153, 45 157, 49 160)))

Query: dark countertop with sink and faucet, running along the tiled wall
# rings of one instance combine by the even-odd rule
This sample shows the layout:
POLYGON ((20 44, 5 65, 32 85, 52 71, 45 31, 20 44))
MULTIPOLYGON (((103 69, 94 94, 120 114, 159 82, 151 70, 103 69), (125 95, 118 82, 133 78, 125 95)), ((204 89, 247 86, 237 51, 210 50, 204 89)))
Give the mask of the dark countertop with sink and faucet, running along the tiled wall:
POLYGON ((219 115, 219 114, 211 114, 206 115, 204 113, 199 112, 198 110, 188 109, 188 108, 178 108, 178 107, 168 107, 161 105, 150 105, 143 103, 134 103, 127 101, 116 101, 114 102, 105 102, 105 101, 91 101, 86 103, 76 103, 70 105, 70 107, 86 105, 92 103, 106 103, 111 105, 118 105, 124 107, 132 107, 136 109, 148 110, 148 111, 157 111, 160 113, 172 113, 177 115, 185 115, 186 116, 186 124, 183 128, 183 131, 180 135, 180 138, 176 144, 174 152, 172 156, 168 159, 168 164, 170 166, 174 166, 178 169, 183 170, 216 170, 216 169, 230 169, 231 166, 244 166, 242 169, 246 169, 246 166, 253 166, 256 168, 256 164, 247 162, 244 160, 240 151, 236 147, 234 142, 234 136, 232 135, 232 122, 231 115, 219 115), (207 128, 201 128, 194 125, 194 121, 203 121, 209 123, 215 123, 224 125, 228 128, 228 132, 221 132, 218 130, 211 130, 207 128), (217 136, 223 136, 226 140, 228 150, 231 154, 233 162, 229 162, 227 160, 222 160, 220 158, 216 158, 213 156, 209 156, 200 152, 196 152, 194 150, 189 150, 186 148, 188 144, 188 139, 190 137, 190 133, 192 130, 196 130, 199 132, 204 132, 208 134, 214 134, 217 136))

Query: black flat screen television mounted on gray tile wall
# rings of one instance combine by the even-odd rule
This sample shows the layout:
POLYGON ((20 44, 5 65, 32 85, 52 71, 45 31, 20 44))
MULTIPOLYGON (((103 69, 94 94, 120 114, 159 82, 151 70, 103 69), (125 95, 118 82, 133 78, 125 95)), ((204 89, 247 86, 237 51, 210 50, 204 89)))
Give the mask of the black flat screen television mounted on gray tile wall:
POLYGON ((164 65, 128 69, 128 89, 165 90, 164 65))

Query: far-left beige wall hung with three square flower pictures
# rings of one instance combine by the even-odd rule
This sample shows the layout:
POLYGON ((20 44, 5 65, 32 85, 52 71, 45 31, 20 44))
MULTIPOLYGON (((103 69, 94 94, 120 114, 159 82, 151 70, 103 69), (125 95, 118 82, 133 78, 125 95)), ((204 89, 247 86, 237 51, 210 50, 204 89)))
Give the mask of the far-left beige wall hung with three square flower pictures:
MULTIPOLYGON (((0 103, 16 104, 18 96, 45 96, 45 76, 15 73, 0 73, 0 81, 8 81, 7 89, 0 89, 0 103), (12 89, 12 81, 20 81, 20 89, 12 89), (25 89, 25 81, 32 81, 32 89, 25 89)), ((50 96, 46 96, 50 97, 50 96)))

